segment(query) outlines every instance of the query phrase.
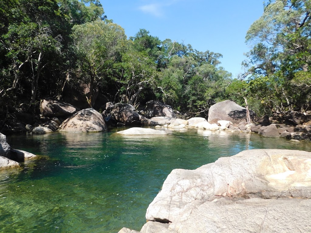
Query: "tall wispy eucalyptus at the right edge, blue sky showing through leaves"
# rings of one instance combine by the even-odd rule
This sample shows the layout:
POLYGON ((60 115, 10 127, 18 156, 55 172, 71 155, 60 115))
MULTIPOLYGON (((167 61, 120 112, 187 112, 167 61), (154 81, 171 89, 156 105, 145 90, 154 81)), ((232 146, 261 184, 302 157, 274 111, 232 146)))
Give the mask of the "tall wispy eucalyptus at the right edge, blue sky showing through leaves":
POLYGON ((249 84, 254 85, 255 91, 260 91, 258 85, 269 86, 269 101, 264 95, 259 98, 272 111, 303 110, 302 102, 308 102, 306 95, 301 101, 301 94, 292 85, 297 86, 299 80, 303 82, 304 76, 309 75, 310 10, 309 0, 271 0, 246 34, 247 43, 255 42, 244 62, 248 68, 246 75, 250 74, 250 79, 254 80, 249 84), (291 81, 293 79, 295 82, 291 81))

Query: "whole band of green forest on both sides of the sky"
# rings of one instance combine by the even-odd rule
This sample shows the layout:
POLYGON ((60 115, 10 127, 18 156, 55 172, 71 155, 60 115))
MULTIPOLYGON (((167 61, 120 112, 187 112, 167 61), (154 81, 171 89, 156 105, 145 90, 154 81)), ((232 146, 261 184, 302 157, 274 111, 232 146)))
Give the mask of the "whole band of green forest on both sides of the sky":
POLYGON ((245 73, 232 79, 220 53, 146 29, 128 38, 98 0, 2 0, 0 105, 34 113, 41 98, 80 94, 85 107, 159 100, 193 116, 226 99, 259 115, 310 110, 310 8, 309 0, 265 3, 246 34, 245 73))

